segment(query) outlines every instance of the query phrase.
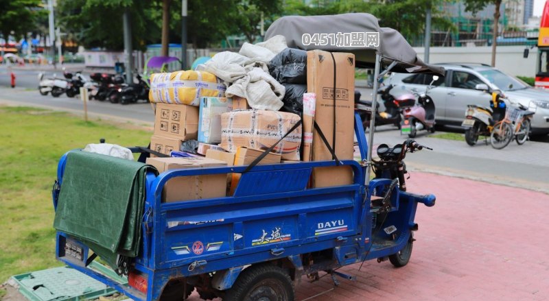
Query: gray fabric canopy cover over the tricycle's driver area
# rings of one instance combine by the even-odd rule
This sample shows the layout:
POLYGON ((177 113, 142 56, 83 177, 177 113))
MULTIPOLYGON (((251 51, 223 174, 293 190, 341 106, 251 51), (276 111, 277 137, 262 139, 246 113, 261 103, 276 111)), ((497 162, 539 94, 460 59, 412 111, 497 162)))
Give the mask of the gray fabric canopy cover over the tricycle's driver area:
MULTIPOLYGON (((265 34, 265 40, 281 34, 285 36, 288 47, 303 50, 320 49, 325 51, 350 52, 355 54, 357 67, 373 67, 375 54, 383 58, 383 64, 397 62, 392 71, 402 73, 439 73, 442 67, 425 64, 417 57, 406 39, 395 29, 379 27, 375 16, 366 13, 336 14, 331 16, 283 16, 274 21, 265 34), (334 37, 351 33, 379 32, 379 43, 365 43, 360 46, 336 45, 334 37), (327 45, 303 44, 303 34, 329 34, 327 45)), ((307 41, 305 42, 307 43, 307 41)))

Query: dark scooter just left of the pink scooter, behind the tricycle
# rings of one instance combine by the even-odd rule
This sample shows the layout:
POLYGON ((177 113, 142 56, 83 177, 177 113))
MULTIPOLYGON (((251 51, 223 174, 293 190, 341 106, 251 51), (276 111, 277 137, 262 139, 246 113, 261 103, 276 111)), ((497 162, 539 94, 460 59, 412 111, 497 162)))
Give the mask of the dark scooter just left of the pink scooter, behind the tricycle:
MULTIPOLYGON (((385 106, 385 111, 380 112, 379 106, 377 106, 375 110, 375 125, 385 125, 385 124, 394 124, 397 126, 397 128, 401 128, 401 110, 406 107, 414 106, 415 104, 415 96, 411 93, 406 91, 406 93, 402 93, 401 95, 398 95, 397 97, 394 97, 392 94, 390 94, 390 91, 395 88, 395 85, 390 84, 388 86, 382 86, 381 88, 377 89, 377 93, 381 96, 383 100, 383 104, 385 106)), ((361 100, 363 104, 366 106, 372 106, 371 101, 364 101, 361 100)), ((364 127, 364 130, 369 127, 370 125, 370 118, 371 113, 364 114, 362 117, 362 125, 364 127)))

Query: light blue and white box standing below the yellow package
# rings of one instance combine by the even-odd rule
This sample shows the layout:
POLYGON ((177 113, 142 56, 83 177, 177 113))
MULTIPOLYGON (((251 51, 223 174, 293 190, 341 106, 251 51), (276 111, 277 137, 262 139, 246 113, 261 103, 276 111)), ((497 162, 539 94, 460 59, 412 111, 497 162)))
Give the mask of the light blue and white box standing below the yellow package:
POLYGON ((200 97, 198 142, 221 142, 221 114, 233 110, 232 100, 226 97, 200 97))

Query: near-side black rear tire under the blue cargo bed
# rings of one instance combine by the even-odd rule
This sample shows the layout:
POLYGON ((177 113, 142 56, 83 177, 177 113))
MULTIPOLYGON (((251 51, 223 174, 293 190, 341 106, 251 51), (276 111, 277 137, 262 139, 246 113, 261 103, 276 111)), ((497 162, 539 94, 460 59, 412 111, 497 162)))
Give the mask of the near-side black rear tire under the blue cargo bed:
POLYGON ((294 300, 294 283, 285 269, 276 265, 252 265, 238 276, 224 301, 294 300))

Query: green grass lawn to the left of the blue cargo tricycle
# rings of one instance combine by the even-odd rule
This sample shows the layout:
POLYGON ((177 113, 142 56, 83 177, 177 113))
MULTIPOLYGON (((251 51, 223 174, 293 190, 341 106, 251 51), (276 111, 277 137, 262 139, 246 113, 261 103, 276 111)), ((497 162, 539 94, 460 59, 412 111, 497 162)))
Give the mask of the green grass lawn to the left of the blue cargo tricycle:
POLYGON ((101 138, 124 146, 148 145, 151 134, 127 123, 86 123, 64 112, 0 106, 0 283, 60 265, 51 186, 62 154, 101 138))

